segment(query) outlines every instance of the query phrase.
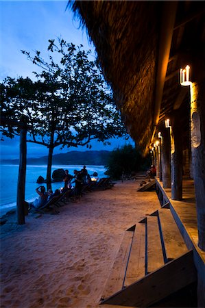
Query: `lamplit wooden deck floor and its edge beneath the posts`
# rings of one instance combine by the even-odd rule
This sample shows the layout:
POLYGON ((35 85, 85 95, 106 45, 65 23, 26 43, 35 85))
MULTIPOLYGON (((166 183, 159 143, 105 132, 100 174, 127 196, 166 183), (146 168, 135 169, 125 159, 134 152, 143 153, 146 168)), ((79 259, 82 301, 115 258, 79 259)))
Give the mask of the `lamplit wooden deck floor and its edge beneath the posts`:
MULTIPOLYGON (((156 185, 164 198, 164 203, 170 203, 170 209, 173 217, 178 224, 184 241, 189 249, 193 249, 195 266, 198 273, 203 275, 205 280, 205 252, 202 251, 198 243, 197 233, 197 212, 195 206, 195 189, 191 179, 183 179, 183 195, 182 201, 174 201, 171 199, 171 189, 163 188, 162 181, 156 179, 156 185)), ((205 284, 205 283, 204 283, 205 284)))

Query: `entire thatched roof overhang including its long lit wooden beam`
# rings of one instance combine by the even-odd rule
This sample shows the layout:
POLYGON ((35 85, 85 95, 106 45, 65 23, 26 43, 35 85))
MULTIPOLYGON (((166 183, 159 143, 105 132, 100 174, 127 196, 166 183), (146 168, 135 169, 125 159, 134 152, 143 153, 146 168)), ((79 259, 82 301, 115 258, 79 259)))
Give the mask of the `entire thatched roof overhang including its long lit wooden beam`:
MULTIPOLYGON (((128 132, 145 152, 180 92, 182 57, 175 53, 187 44, 187 15, 199 16, 202 9, 201 3, 195 9, 195 1, 181 2, 70 1, 95 44, 128 132)), ((195 18, 188 20, 196 29, 195 18)))

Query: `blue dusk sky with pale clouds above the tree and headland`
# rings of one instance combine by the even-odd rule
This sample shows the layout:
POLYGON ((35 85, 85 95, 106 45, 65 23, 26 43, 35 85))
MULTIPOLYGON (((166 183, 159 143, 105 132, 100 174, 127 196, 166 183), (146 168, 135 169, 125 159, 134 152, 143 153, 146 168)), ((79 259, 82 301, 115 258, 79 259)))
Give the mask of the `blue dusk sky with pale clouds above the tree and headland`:
MULTIPOLYGON (((74 20, 73 12, 65 10, 66 6, 67 1, 0 1, 0 81, 7 76, 34 79, 32 71, 38 71, 38 67, 27 60, 21 49, 31 52, 38 50, 43 57, 47 57, 49 39, 62 37, 75 45, 82 44, 84 49, 91 49, 91 56, 95 57, 95 49, 88 42, 86 31, 79 27, 79 21, 74 20)), ((112 151, 125 144, 123 138, 111 141, 111 146, 92 142, 92 150, 112 151)), ((19 157, 19 138, 7 138, 1 141, 0 146, 1 159, 19 157)), ((54 154, 84 149, 78 147, 60 151, 56 148, 54 154)), ((27 157, 43 155, 47 155, 45 146, 27 143, 27 157)))

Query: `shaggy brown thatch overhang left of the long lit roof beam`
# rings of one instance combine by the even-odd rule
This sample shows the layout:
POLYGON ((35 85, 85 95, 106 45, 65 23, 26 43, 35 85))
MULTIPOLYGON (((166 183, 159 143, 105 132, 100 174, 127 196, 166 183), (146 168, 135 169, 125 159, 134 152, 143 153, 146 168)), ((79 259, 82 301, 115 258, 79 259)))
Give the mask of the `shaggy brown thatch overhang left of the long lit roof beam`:
POLYGON ((152 135, 158 10, 156 1, 69 1, 95 44, 130 135, 145 149, 152 135))

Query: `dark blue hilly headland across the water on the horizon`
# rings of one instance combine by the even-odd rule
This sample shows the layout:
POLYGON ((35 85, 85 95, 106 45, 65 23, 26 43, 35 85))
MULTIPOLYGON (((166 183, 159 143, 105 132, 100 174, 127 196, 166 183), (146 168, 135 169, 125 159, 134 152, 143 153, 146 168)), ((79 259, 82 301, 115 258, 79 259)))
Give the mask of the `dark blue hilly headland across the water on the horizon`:
MULTIPOLYGON (((53 155, 53 165, 95 165, 105 166, 110 157, 110 151, 70 151, 53 155)), ((19 159, 1 159, 1 164, 19 164, 19 159)), ((47 156, 27 158, 27 164, 45 165, 47 156)))

